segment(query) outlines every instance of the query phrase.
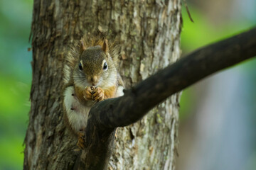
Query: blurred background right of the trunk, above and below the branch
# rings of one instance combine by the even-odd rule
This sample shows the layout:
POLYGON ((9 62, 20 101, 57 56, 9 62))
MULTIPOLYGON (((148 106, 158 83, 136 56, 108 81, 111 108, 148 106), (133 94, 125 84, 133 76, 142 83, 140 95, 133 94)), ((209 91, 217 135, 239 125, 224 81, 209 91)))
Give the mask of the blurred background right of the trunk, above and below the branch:
MULTIPOLYGON (((183 54, 256 26, 255 0, 187 0, 183 54)), ((255 38, 255 37, 254 37, 255 38)), ((178 170, 256 169, 256 59, 183 91, 178 170)))

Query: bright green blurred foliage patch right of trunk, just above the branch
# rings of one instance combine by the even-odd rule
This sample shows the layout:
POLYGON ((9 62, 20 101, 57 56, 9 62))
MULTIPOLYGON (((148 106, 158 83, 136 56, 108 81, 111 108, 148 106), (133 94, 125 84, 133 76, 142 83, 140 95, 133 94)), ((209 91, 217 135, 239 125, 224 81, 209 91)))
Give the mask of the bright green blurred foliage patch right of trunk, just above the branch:
MULTIPOLYGON (((181 49, 185 52, 196 50, 198 47, 218 42, 230 36, 241 33, 248 28, 252 28, 255 23, 247 20, 238 20, 236 22, 227 21, 221 26, 215 26, 206 18, 203 11, 188 5, 189 11, 194 23, 188 18, 186 8, 182 8, 183 30, 181 32, 181 49)), ((255 17, 256 18, 256 17, 255 17)))

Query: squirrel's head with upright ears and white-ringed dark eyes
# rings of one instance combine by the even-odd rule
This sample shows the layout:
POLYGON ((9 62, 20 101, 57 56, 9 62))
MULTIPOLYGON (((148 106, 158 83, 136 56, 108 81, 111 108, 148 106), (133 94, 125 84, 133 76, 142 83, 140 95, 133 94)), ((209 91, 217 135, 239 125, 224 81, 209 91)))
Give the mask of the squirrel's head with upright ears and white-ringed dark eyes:
POLYGON ((112 83, 117 71, 109 54, 107 40, 102 46, 87 48, 80 40, 80 60, 74 71, 73 78, 78 86, 102 86, 112 83))

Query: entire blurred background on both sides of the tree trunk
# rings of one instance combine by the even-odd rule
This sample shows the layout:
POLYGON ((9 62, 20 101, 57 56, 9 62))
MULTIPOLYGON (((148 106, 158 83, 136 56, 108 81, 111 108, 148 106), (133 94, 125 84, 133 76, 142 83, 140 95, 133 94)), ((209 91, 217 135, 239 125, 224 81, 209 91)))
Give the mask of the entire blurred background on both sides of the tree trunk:
MULTIPOLYGON (((195 23, 183 7, 183 54, 256 26, 255 0, 187 2, 195 23)), ((32 0, 0 1, 0 169, 5 170, 23 164, 32 9, 32 0)), ((177 169, 256 169, 255 86, 254 59, 183 91, 177 169)))

